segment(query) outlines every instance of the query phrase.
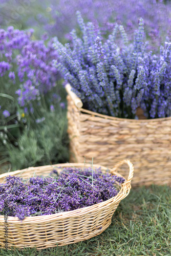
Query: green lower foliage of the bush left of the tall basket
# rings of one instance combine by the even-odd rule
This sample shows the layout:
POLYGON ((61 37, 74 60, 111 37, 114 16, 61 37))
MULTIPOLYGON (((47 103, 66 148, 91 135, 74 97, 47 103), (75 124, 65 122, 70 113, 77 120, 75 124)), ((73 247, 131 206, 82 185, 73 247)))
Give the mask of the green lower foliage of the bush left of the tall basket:
MULTIPOLYGON (((24 110, 18 108, 17 114, 2 121, 0 173, 9 171, 8 164, 4 169, 5 162, 11 164, 11 170, 15 170, 69 160, 67 111, 60 106, 60 102, 66 104, 66 91, 61 82, 58 81, 56 87, 41 96, 38 102, 33 102, 33 113, 28 111, 24 114, 24 110), (55 99, 54 94, 59 99, 55 99), (51 109, 51 105, 54 109, 51 109)), ((15 84, 14 87, 16 90, 15 84)), ((4 108, 12 102, 12 99, 8 101, 8 95, 0 96, 4 99, 4 108)), ((13 108, 16 113, 15 105, 13 108)))

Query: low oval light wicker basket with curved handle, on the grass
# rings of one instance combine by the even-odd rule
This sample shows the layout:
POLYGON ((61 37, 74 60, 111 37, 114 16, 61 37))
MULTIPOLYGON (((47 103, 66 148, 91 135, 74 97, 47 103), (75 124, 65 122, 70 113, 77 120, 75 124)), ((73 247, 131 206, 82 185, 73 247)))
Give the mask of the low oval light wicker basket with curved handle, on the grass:
MULTIPOLYGON (((117 196, 93 206, 80 208, 73 211, 61 212, 59 214, 44 215, 36 217, 26 217, 22 222, 17 217, 8 217, 8 247, 24 248, 34 247, 38 250, 48 247, 55 247, 77 243, 90 239, 103 232, 111 224, 112 216, 122 199, 124 199, 131 189, 134 167, 129 160, 118 163, 110 172, 113 175, 119 166, 129 165, 129 178, 120 187, 117 196)), ((56 164, 41 167, 30 167, 24 170, 0 175, 0 182, 8 175, 19 175, 23 178, 33 177, 34 175, 46 176, 55 167, 90 167, 90 164, 56 164)), ((93 165, 93 168, 101 165, 93 165)), ((102 171, 107 168, 101 166, 102 171)), ((60 169, 59 169, 60 170, 60 169)), ((60 171, 59 171, 60 172, 60 171)), ((4 216, 0 216, 0 247, 4 248, 4 216)))

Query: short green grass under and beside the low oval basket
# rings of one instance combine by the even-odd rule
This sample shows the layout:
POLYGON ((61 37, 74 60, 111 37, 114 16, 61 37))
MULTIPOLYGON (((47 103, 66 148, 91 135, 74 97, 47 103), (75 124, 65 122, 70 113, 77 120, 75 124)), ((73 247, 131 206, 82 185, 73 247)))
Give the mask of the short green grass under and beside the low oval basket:
POLYGON ((121 201, 112 224, 99 236, 80 243, 36 251, 0 251, 2 256, 171 255, 171 188, 133 188, 121 201))

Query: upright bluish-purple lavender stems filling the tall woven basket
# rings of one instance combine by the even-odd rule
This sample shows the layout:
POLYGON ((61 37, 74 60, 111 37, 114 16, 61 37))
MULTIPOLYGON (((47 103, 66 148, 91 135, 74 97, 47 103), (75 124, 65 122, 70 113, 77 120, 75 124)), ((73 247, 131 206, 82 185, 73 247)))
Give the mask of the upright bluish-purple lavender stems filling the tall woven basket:
POLYGON ((54 66, 70 82, 83 107, 122 118, 137 118, 139 106, 147 118, 170 116, 171 43, 161 46, 159 56, 148 51, 142 18, 133 44, 121 25, 103 42, 93 23, 85 25, 79 12, 77 16, 82 38, 73 30, 72 48, 56 38, 59 60, 54 66), (117 30, 122 36, 119 46, 115 43, 117 30))

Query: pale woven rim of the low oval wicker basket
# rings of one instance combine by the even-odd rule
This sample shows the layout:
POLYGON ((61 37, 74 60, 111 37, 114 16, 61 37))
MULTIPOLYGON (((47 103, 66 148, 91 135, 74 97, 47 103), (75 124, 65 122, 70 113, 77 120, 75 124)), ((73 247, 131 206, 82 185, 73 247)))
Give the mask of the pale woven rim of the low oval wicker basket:
MULTIPOLYGON (((126 163, 126 161, 130 162, 129 160, 123 160, 121 161, 120 163, 126 163)), ((111 169, 111 168, 106 168, 105 166, 103 165, 99 165, 99 164, 94 164, 93 167, 103 167, 105 169, 109 169, 110 173, 112 172, 112 174, 116 174, 116 175, 120 175, 118 174, 117 172, 115 172, 115 169, 117 168, 117 166, 120 166, 121 164, 118 163, 117 165, 114 166, 114 170, 111 169), (120 164, 120 165, 119 165, 120 164)), ((131 163, 131 162, 130 162, 131 163)), ((76 165, 83 165, 83 163, 71 163, 71 164, 76 164, 76 165)), ((132 163, 131 163, 132 164, 132 163)), ((41 168, 41 167, 57 167, 57 166, 62 166, 62 165, 67 165, 67 164, 55 164, 55 165, 44 165, 44 166, 37 166, 37 167, 28 167, 26 169, 22 169, 22 170, 16 170, 14 172, 10 172, 10 173, 5 173, 5 174, 2 174, 0 175, 0 179, 2 178, 5 178, 6 176, 9 176, 10 174, 13 174, 13 176, 16 174, 16 175, 19 175, 19 174, 22 174, 24 172, 27 172, 28 170, 32 171, 34 169, 38 169, 38 168, 41 168)), ((91 164, 86 164, 86 165, 89 165, 91 166, 91 164)), ((86 166, 85 165, 85 166, 86 166)), ((132 165, 133 166, 133 165, 132 165)), ((133 172, 134 172, 134 167, 132 167, 133 170, 132 170, 132 176, 133 176, 133 172)), ((131 167, 130 167, 130 171, 131 171, 131 167)), ((123 177, 122 175, 120 175, 121 177, 123 177)), ((124 177, 123 177, 124 178, 124 177)), ((124 178, 125 179, 125 178, 124 178)), ((106 201, 103 201, 103 202, 100 202, 98 204, 94 204, 94 205, 91 205, 91 206, 86 206, 86 207, 82 207, 82 208, 78 208, 78 209, 75 209, 75 210, 70 210, 70 211, 64 211, 64 212, 58 212, 56 214, 51 214, 51 215, 40 215, 40 216, 28 216, 28 217, 25 217, 25 219, 23 221, 20 221, 18 219, 18 217, 12 217, 12 216, 8 216, 8 222, 12 222, 12 223, 15 223, 15 224, 27 224, 27 223, 34 223, 34 222, 38 222, 38 223, 41 223, 41 222, 48 222, 50 221, 51 219, 52 220, 58 220, 58 219, 66 219, 66 218, 73 218, 73 217, 77 217, 78 215, 81 216, 81 215, 85 215, 85 214, 88 214, 89 212, 95 212, 96 210, 99 210, 99 209, 103 209, 105 207, 106 204, 113 204, 115 202, 118 201, 121 201, 122 199, 124 199, 129 193, 130 193, 130 189, 131 189, 131 181, 129 183, 129 185, 127 186, 127 180, 125 179, 125 182, 122 183, 120 185, 120 190, 118 192, 118 194, 115 196, 115 197, 112 197, 106 201)), ((0 215, 0 222, 3 223, 4 222, 4 215, 0 215)))

